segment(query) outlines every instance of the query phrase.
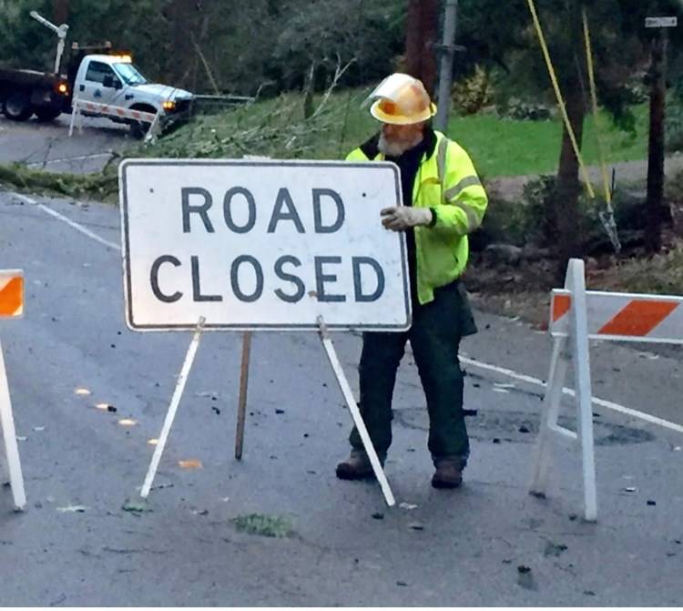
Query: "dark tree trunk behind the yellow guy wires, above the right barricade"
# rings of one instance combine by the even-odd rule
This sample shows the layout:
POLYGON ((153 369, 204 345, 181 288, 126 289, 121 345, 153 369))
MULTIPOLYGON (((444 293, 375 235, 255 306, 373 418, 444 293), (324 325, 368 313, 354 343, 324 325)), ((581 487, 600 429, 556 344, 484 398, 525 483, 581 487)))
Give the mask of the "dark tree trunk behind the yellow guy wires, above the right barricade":
MULTIPOLYGON (((566 87, 566 111, 569 123, 574 129, 579 149, 584 132, 586 106, 582 97, 580 83, 574 87, 566 87)), ((556 249, 558 255, 557 280, 565 279, 568 260, 581 257, 583 236, 578 198, 581 193, 581 182, 578 176, 578 159, 574 153, 569 132, 566 127, 562 134, 562 150, 557 170, 555 197, 549 199, 549 216, 551 227, 556 232, 556 249)))

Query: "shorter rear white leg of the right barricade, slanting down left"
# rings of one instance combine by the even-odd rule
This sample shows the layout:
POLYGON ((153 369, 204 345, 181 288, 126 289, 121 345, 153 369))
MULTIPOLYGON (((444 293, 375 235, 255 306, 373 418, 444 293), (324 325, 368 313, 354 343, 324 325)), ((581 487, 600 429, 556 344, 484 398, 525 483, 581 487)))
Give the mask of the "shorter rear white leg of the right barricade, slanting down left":
POLYGON ((532 473, 531 494, 545 496, 548 490, 548 477, 553 463, 553 434, 557 427, 557 417, 562 401, 569 359, 566 354, 566 338, 556 339, 550 372, 542 403, 541 423, 535 447, 534 470, 532 473))

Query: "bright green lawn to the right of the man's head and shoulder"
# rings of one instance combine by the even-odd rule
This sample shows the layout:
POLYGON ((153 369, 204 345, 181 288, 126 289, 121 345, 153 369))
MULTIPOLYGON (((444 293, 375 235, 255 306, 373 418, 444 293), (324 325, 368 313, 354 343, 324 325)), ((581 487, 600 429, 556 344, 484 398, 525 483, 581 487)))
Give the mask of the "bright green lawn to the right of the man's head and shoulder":
MULTIPOLYGON (((614 127, 605 113, 598 118, 607 163, 647 158, 647 107, 635 108, 636 134, 614 127)), ((454 117, 448 133, 473 158, 487 178, 553 173, 557 169, 562 124, 519 121, 494 116, 454 117)), ((582 154, 589 166, 599 164, 596 126, 586 118, 582 154)))

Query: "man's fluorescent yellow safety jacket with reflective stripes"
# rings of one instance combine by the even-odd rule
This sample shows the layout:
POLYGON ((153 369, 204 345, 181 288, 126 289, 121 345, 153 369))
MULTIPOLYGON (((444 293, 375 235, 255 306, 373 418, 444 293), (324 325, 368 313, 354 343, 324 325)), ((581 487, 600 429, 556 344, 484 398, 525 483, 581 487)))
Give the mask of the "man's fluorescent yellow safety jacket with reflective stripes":
MULTIPOLYGON (((484 220, 486 192, 474 170, 472 159, 453 140, 434 131, 436 147, 425 154, 413 184, 413 206, 430 208, 435 222, 415 228, 417 296, 421 304, 434 298, 434 289, 461 276, 467 265, 467 234, 484 220)), ((361 148, 352 150, 347 161, 383 161, 379 153, 369 159, 361 148)))

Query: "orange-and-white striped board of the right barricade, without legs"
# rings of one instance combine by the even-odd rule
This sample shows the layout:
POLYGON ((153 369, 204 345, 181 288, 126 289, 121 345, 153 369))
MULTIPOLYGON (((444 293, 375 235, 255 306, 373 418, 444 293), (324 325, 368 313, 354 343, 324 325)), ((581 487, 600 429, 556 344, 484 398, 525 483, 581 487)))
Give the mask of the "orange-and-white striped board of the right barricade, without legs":
MULTIPOLYGON (((550 332, 566 337, 571 292, 553 290, 550 332)), ((588 337, 596 340, 683 343, 683 297, 586 291, 588 337)))

